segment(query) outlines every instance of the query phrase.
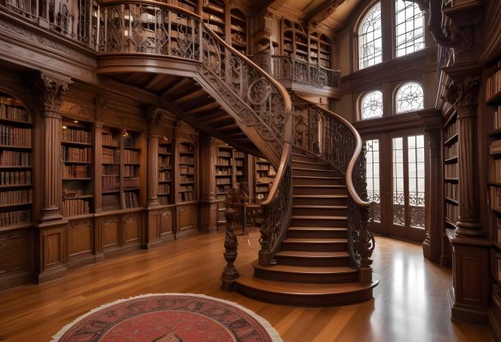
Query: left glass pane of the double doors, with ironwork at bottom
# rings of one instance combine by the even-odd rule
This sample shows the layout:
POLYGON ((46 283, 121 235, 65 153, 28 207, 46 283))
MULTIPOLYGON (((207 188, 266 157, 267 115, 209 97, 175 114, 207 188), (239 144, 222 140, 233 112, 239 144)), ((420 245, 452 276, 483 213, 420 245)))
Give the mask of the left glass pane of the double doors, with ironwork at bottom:
POLYGON ((403 138, 393 138, 393 223, 405 225, 403 138))

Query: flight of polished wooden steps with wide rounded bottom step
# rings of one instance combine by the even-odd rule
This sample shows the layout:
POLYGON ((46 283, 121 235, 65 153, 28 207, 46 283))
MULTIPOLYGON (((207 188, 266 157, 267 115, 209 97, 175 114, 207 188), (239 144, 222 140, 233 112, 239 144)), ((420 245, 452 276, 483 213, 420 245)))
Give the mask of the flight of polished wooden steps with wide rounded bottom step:
POLYGON ((370 300, 379 280, 358 282, 347 241, 345 176, 307 151, 292 154, 292 217, 276 265, 253 262, 236 290, 288 306, 338 306, 370 300))

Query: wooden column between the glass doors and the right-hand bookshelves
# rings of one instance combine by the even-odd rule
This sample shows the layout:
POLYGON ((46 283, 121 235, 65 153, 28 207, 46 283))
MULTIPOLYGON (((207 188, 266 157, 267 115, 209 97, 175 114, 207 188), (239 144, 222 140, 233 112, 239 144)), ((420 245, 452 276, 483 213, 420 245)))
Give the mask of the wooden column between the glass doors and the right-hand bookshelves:
POLYGON ((426 220, 425 239, 423 241, 423 256, 436 260, 441 250, 441 159, 440 159, 440 129, 428 131, 428 196, 426 207, 428 218, 426 220))

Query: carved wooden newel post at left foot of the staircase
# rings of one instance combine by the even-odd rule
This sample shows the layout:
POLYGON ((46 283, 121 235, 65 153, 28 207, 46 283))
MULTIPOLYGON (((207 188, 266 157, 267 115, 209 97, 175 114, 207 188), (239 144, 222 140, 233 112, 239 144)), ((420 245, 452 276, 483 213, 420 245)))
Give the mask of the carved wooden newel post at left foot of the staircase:
POLYGON ((237 211, 235 208, 232 208, 231 200, 232 197, 226 198, 226 211, 224 212, 224 217, 226 218, 226 234, 224 236, 223 256, 224 260, 226 260, 226 267, 224 267, 221 276, 221 288, 224 291, 233 291, 233 281, 239 277, 238 271, 233 265, 238 255, 238 240, 235 235, 235 217, 237 216, 237 211))

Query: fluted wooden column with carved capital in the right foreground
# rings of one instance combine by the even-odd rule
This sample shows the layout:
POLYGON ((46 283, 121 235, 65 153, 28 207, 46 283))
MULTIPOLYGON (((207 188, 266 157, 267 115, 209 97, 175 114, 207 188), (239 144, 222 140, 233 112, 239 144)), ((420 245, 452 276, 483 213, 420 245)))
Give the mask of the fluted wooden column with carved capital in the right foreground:
POLYGON ((456 234, 481 236, 478 216, 476 156, 476 117, 480 77, 455 77, 446 90, 445 99, 458 112, 458 179, 459 217, 456 234))

